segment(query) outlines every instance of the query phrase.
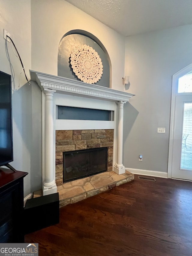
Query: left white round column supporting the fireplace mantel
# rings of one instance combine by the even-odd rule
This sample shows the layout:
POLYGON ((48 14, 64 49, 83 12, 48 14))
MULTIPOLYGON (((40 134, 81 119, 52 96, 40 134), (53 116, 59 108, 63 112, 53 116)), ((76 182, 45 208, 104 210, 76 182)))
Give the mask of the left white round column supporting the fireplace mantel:
POLYGON ((57 192, 55 183, 54 155, 54 127, 53 127, 53 96, 55 90, 44 88, 45 93, 45 180, 43 182, 43 195, 57 192))

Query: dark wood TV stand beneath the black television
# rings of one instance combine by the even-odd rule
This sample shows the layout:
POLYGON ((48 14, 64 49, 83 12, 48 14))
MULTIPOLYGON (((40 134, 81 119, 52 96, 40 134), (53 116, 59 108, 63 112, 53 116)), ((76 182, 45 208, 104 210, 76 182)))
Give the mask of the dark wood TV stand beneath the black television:
POLYGON ((24 242, 23 178, 27 174, 0 167, 0 243, 24 242))

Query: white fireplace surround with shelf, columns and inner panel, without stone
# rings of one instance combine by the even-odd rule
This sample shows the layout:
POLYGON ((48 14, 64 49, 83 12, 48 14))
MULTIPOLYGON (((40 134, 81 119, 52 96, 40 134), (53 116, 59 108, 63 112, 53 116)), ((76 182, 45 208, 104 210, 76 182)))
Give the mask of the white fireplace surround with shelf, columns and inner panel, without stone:
MULTIPOLYGON (((122 163, 123 150, 123 105, 134 96, 103 86, 83 83, 64 77, 44 74, 30 70, 32 81, 36 81, 42 91, 42 186, 43 195, 57 192, 55 182, 55 131, 63 130, 113 130, 113 171, 125 173, 122 163), (72 96, 71 96, 72 95, 72 96), (76 102, 73 97, 75 96, 76 102), (68 98, 67 98, 68 97, 68 98), (77 99, 78 98, 78 99, 77 99), (73 103, 71 103, 73 102, 73 103), (89 107, 114 110, 114 121, 80 122, 78 127, 74 120, 57 120, 56 105, 89 107), (86 105, 86 104, 89 105, 86 105), (116 103, 116 104, 114 104, 116 103), (93 107, 94 106, 94 107, 93 107)), ((78 135, 78 134, 77 134, 78 135)), ((112 142, 112 141, 111 141, 112 142)), ((58 175, 59 176, 59 175, 58 175)))

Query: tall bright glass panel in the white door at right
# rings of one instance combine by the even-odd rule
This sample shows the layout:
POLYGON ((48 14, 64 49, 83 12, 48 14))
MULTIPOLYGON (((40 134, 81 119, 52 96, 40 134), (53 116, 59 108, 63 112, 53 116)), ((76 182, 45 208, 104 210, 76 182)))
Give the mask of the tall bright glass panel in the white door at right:
POLYGON ((192 170, 192 102, 184 103, 180 168, 192 170))

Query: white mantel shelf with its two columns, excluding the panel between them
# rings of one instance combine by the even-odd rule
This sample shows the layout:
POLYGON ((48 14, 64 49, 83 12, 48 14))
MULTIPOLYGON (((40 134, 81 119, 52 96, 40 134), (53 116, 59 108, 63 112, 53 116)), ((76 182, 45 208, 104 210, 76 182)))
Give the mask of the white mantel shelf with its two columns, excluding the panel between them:
MULTIPOLYGON (((123 106, 134 96, 128 92, 122 92, 115 89, 98 86, 94 84, 83 83, 65 77, 58 77, 41 72, 30 70, 31 80, 37 82, 38 86, 45 95, 42 99, 42 158, 43 158, 43 194, 52 194, 57 192, 55 183, 55 163, 54 163, 54 95, 68 94, 86 98, 95 98, 102 101, 113 101, 118 105, 118 119, 115 121, 117 128, 117 161, 113 165, 113 171, 122 174, 125 173, 125 166, 122 164, 123 151, 123 106), (43 107, 44 106, 44 107, 43 107)), ((106 102, 107 103, 107 102, 106 102)), ((110 104, 110 103, 109 103, 110 104)), ((108 105, 108 104, 107 104, 108 105)), ((72 129, 72 127, 71 127, 72 129)), ((102 127, 99 127, 102 129, 102 127)))

